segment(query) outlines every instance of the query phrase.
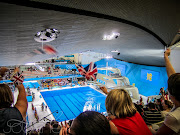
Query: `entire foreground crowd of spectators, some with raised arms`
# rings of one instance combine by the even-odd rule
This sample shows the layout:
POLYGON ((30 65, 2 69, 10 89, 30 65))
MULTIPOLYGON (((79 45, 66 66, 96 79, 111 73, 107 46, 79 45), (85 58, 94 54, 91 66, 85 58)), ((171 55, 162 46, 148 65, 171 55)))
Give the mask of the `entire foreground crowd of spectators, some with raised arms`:
MULTIPOLYGON (((105 106, 108 116, 95 111, 85 111, 78 115, 72 124, 57 121, 47 122, 40 130, 28 134, 40 135, 179 135, 180 134, 180 73, 175 73, 168 56, 164 53, 168 74, 168 94, 160 90, 161 98, 150 101, 147 105, 134 104, 124 89, 110 92, 106 87, 100 89, 107 94, 105 106), (173 108, 172 108, 173 107, 173 108), (158 123, 161 123, 158 125, 158 123), (154 128, 158 125, 158 128, 154 128)), ((6 68, 0 69, 1 78, 6 68)), ((18 72, 18 69, 15 69, 18 72)), ((13 95, 8 85, 0 84, 0 133, 25 134, 27 111, 26 92, 23 84, 16 85, 19 90, 14 106, 13 95)))

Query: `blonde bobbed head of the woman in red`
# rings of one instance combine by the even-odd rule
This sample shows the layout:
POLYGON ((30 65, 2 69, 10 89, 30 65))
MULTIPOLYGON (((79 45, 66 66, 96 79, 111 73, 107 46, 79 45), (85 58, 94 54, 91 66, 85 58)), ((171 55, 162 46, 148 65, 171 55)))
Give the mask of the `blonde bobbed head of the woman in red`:
POLYGON ((117 118, 131 117, 136 113, 136 108, 129 93, 124 89, 115 89, 106 97, 106 110, 117 118))

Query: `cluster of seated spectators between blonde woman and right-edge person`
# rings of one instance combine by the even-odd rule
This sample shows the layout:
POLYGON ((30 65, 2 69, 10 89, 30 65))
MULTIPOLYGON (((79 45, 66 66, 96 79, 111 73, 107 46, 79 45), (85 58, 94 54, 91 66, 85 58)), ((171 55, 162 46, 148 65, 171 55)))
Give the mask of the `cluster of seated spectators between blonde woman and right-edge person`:
MULTIPOLYGON (((163 88, 160 89, 160 93, 163 88)), ((165 116, 171 111, 173 108, 173 102, 168 100, 166 97, 169 97, 168 94, 160 94, 159 98, 152 98, 151 100, 147 100, 147 104, 144 105, 140 102, 134 103, 137 111, 141 114, 144 121, 147 125, 159 124, 162 123, 165 119, 165 116)), ((140 98, 141 100, 142 98, 140 98)))

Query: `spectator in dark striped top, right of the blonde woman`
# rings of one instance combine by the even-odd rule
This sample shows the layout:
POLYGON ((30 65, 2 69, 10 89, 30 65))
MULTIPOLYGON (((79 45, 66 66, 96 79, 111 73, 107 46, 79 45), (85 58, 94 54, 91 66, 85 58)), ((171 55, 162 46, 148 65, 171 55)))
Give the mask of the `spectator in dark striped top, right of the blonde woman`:
POLYGON ((143 118, 147 125, 158 123, 163 120, 161 112, 156 109, 154 103, 148 104, 148 111, 144 111, 143 118))

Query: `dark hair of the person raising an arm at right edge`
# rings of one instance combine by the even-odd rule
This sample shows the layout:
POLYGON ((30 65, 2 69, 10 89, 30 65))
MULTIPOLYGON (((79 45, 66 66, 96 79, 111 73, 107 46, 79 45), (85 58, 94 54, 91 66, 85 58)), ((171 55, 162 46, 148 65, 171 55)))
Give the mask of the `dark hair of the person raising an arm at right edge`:
POLYGON ((169 77, 168 91, 176 100, 180 101, 180 73, 175 73, 169 77))

